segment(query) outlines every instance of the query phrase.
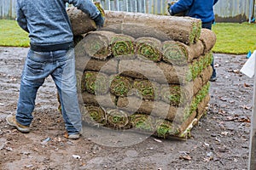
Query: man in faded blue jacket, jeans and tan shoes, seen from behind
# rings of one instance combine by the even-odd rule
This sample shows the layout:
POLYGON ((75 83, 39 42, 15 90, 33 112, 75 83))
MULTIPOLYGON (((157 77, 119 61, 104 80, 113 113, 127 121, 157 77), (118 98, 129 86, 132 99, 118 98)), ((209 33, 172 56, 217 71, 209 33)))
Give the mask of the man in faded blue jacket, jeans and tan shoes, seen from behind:
POLYGON ((53 78, 60 94, 61 111, 69 139, 79 139, 81 113, 76 88, 73 31, 66 3, 88 14, 103 26, 102 14, 90 0, 17 0, 17 22, 29 33, 30 49, 21 75, 20 96, 15 116, 9 125, 29 133, 38 88, 44 79, 53 78))

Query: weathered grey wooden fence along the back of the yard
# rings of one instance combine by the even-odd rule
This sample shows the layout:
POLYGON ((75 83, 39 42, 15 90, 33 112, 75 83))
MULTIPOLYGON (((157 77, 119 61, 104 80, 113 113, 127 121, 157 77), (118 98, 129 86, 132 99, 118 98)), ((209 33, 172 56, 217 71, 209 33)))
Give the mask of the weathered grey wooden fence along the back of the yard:
MULTIPOLYGON (((42 0, 44 1, 44 0, 42 0)), ((150 14, 167 14, 166 5, 172 0, 93 0, 100 1, 105 10, 150 14)), ((256 4, 253 4, 253 16, 256 4)), ((249 18, 250 0, 219 0, 214 7, 217 21, 243 22, 249 18)), ((0 0, 0 19, 15 19, 15 0, 0 0)))

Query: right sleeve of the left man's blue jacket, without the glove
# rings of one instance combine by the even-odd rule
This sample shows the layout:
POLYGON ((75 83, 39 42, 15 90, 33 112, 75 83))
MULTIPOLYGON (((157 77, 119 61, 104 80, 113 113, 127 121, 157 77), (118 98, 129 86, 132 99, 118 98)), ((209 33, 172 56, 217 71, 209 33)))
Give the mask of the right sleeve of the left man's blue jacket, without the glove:
POLYGON ((90 0, 64 0, 66 3, 72 3, 73 6, 79 8, 85 14, 88 14, 91 19, 95 19, 100 11, 96 8, 96 5, 90 0))

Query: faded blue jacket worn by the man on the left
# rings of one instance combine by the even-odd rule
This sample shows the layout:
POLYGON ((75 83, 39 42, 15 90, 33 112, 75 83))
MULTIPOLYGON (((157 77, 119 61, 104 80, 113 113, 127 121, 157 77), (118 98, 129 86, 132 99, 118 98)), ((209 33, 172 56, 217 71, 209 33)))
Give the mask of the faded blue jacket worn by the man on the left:
POLYGON ((17 0, 19 26, 29 33, 33 45, 49 46, 73 42, 73 31, 66 3, 95 19, 100 11, 90 0, 17 0))

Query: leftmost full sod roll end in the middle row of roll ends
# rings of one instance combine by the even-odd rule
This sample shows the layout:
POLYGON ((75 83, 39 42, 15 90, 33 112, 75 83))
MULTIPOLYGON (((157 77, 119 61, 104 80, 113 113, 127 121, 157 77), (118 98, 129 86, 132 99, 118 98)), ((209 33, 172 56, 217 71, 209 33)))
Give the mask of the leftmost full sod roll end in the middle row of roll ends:
POLYGON ((82 92, 90 94, 107 94, 109 89, 108 76, 101 72, 84 71, 84 76, 81 80, 82 92))

